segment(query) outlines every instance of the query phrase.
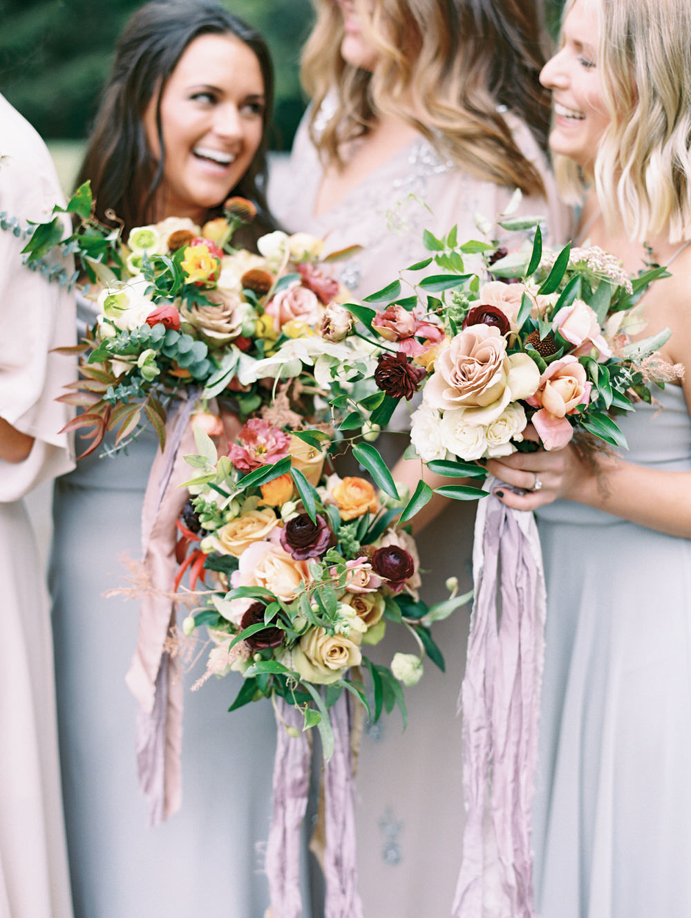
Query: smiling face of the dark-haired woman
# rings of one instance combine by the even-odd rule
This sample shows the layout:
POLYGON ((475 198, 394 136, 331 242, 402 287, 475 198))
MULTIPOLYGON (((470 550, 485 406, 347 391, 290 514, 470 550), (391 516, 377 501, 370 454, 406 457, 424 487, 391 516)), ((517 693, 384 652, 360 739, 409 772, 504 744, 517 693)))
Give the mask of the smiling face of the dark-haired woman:
MULTIPOLYGON (((150 151, 158 160, 157 96, 144 112, 150 151)), ((189 43, 163 86, 164 149, 157 218, 204 221, 247 172, 262 141, 264 84, 251 48, 233 35, 201 35, 189 43)))

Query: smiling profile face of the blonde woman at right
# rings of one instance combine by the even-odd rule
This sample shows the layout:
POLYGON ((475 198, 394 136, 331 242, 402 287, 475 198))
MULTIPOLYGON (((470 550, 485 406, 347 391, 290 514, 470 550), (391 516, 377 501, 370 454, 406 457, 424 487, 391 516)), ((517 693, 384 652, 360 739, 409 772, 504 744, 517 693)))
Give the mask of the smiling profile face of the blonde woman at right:
POLYGON ((542 68, 540 82, 552 91, 550 147, 593 173, 597 145, 609 124, 596 62, 596 0, 575 0, 563 22, 562 47, 542 68))

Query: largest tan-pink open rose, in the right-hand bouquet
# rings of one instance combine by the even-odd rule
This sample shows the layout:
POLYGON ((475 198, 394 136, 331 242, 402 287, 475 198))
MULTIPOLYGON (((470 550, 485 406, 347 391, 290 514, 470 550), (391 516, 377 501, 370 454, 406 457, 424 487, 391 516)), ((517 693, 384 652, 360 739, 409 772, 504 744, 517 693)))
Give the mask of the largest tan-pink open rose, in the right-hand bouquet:
POLYGON ((531 396, 539 381, 540 370, 528 354, 507 355, 496 326, 470 325, 440 352, 424 399, 441 411, 463 409, 469 424, 488 424, 509 402, 531 396))

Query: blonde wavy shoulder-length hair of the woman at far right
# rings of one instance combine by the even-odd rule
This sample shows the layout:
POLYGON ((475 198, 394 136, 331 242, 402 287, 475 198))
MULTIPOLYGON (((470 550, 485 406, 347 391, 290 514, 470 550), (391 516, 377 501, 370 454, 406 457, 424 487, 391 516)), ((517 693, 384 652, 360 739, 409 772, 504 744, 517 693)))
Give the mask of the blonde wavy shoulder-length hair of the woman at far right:
MULTIPOLYGON (((565 7, 568 13, 574 0, 565 7)), ((597 62, 610 121, 595 186, 607 229, 631 239, 691 236, 691 15, 688 0, 598 0, 597 62)), ((574 162, 555 157, 566 195, 583 191, 574 162)))

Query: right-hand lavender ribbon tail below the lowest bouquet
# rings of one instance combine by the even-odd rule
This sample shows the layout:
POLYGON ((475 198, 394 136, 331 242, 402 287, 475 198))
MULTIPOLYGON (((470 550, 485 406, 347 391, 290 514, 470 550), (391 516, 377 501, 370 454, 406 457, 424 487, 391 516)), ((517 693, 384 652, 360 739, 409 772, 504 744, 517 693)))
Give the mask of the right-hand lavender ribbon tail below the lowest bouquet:
POLYGON ((326 918, 362 918, 355 841, 355 788, 351 757, 351 712, 345 690, 329 709, 334 751, 324 767, 327 845, 326 918))

